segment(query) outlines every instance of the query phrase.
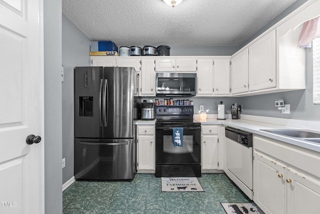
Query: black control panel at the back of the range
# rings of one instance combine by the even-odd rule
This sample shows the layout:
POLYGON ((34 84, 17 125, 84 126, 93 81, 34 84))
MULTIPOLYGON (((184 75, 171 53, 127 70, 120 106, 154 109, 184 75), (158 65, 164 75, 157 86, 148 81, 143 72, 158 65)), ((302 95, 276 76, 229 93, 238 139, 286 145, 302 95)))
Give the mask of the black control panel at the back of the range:
POLYGON ((155 106, 156 115, 193 115, 193 106, 155 106))

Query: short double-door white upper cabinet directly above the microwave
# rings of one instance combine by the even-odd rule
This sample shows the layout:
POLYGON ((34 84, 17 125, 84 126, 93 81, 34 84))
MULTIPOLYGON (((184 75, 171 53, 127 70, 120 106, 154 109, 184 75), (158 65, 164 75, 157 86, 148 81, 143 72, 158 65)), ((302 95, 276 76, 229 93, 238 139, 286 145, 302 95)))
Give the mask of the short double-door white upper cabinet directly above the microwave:
POLYGON ((156 72, 196 72, 195 58, 155 59, 156 72))

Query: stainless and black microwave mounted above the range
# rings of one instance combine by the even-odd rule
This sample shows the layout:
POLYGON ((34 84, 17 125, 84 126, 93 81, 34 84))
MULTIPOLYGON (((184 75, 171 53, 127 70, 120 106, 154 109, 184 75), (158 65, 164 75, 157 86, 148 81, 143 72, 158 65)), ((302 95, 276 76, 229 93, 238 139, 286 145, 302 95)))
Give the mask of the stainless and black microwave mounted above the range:
POLYGON ((196 73, 156 73, 155 94, 157 97, 195 96, 196 73))

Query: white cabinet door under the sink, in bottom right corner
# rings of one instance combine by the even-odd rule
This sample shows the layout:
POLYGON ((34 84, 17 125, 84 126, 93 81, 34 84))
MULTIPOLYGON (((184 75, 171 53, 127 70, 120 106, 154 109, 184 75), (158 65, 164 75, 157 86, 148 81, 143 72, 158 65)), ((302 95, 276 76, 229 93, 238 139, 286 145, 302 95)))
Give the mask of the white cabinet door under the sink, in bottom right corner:
POLYGON ((304 174, 287 169, 287 214, 319 213, 320 183, 304 174))

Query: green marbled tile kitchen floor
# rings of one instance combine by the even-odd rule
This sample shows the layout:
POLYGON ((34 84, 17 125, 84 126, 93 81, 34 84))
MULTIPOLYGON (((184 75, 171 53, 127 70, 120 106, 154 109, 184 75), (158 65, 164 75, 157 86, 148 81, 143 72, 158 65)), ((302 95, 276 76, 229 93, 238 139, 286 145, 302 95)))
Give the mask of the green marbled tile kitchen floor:
POLYGON ((220 202, 252 202, 225 174, 198 177, 204 192, 161 192, 161 178, 75 181, 63 191, 63 213, 225 213, 220 202))

